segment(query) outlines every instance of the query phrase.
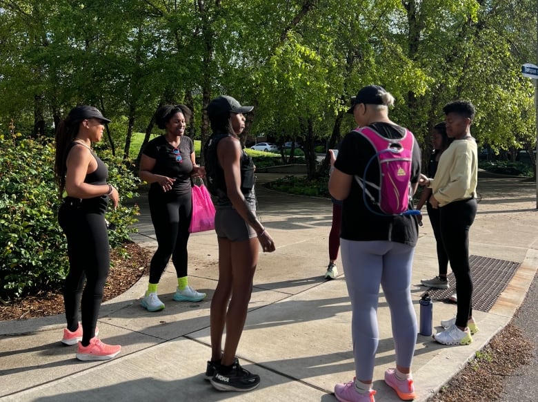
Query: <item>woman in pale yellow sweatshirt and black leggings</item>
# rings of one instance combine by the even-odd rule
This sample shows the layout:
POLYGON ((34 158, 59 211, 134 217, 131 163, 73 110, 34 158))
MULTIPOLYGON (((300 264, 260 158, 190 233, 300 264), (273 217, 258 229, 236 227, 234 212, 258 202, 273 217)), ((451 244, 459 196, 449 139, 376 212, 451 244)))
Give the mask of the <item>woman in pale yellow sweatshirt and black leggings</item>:
POLYGON ((477 214, 477 143, 470 135, 475 106, 467 101, 447 104, 446 133, 454 141, 439 159, 435 178, 421 175, 432 189, 430 204, 439 208, 439 224, 450 267, 456 278, 457 314, 441 321, 444 332, 434 335, 444 345, 468 345, 478 331, 472 318, 472 275, 469 265, 469 229, 477 214))

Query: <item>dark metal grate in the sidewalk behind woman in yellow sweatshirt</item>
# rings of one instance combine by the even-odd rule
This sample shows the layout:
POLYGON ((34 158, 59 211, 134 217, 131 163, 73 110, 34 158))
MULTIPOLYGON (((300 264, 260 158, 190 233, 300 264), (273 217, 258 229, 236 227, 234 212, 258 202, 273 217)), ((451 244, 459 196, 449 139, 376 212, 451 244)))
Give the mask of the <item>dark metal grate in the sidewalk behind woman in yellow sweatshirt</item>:
MULTIPOLYGON (((469 256, 469 262, 474 283, 472 292, 472 308, 488 312, 506 289, 514 276, 519 262, 497 260, 481 256, 469 256)), ((454 274, 448 274, 448 289, 431 289, 428 291, 433 300, 448 300, 448 296, 456 291, 454 274)))

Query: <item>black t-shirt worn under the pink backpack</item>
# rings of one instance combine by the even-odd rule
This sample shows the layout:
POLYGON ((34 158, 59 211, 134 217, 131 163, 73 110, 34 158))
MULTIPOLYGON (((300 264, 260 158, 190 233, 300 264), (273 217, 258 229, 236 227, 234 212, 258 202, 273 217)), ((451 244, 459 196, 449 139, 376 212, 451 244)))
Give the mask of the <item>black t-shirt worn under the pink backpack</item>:
MULTIPOLYGON (((406 133, 403 127, 381 122, 370 124, 370 128, 386 138, 401 138, 406 133)), ((373 155, 375 149, 366 137, 350 131, 342 141, 335 168, 348 175, 358 175, 362 178, 364 168, 373 155)), ((421 153, 416 139, 411 165, 411 182, 416 183, 419 181, 421 167, 421 153)), ((379 170, 379 164, 372 162, 366 180, 378 183, 379 170)), ((411 200, 410 209, 412 209, 411 200)), ((416 216, 377 216, 370 212, 364 204, 361 187, 354 177, 348 198, 343 200, 340 236, 346 240, 390 240, 415 246, 419 236, 418 221, 416 216)))

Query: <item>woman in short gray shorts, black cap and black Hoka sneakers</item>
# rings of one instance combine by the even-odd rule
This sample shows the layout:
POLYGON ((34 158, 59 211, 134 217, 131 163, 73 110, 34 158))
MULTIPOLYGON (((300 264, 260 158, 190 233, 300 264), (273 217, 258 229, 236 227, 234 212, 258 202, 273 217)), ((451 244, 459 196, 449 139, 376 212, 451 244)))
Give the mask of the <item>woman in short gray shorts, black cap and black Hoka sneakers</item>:
POLYGON ((275 251, 275 242, 256 218, 255 166, 238 137, 245 128, 243 114, 252 109, 228 96, 212 99, 207 108, 213 134, 203 152, 208 189, 217 198, 219 283, 211 301, 212 356, 206 378, 221 391, 250 391, 259 385, 259 376, 243 369, 235 353, 252 293, 258 244, 264 252, 275 251))

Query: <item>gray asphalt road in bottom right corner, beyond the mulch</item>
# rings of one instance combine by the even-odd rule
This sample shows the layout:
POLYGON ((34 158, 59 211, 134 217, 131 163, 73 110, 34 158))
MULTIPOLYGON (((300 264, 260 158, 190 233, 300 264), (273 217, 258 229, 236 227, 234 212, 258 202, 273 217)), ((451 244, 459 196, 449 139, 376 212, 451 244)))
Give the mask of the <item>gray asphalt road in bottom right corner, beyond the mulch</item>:
POLYGON ((537 402, 538 381, 538 275, 535 276, 524 303, 519 308, 519 314, 514 317, 514 324, 523 330, 524 336, 535 344, 535 353, 528 365, 519 367, 508 376, 502 391, 500 402, 537 402))

